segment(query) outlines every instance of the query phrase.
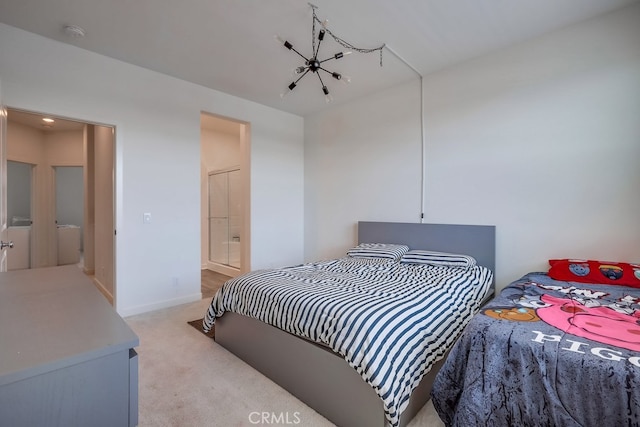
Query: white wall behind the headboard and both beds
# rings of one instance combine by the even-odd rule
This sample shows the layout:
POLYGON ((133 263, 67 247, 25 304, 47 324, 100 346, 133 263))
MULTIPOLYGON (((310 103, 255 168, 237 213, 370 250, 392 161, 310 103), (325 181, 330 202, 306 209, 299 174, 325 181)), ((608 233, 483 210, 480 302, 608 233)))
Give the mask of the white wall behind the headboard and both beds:
MULTIPOLYGON (((629 7, 425 76, 425 222, 495 224, 499 288, 554 257, 640 261, 639 22, 629 7)), ((409 89, 305 118, 307 259, 344 251, 357 220, 417 222, 409 89)))

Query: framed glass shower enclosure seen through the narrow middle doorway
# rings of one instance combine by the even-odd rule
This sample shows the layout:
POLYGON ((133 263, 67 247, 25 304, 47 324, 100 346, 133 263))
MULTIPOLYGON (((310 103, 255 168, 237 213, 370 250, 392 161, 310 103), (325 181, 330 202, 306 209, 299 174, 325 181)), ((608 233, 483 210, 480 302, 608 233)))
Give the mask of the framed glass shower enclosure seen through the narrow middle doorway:
POLYGON ((209 173, 209 261, 240 269, 240 169, 209 173))

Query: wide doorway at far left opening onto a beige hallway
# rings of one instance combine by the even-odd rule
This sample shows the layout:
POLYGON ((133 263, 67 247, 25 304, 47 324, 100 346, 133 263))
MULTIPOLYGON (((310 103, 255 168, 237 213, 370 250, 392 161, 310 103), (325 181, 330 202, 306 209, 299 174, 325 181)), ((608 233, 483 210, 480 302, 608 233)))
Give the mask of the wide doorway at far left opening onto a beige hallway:
POLYGON ((30 191, 29 206, 21 201, 19 212, 13 209, 18 199, 7 200, 9 228, 12 217, 29 228, 29 249, 14 242, 7 264, 20 251, 28 253, 25 268, 77 264, 113 304, 114 127, 13 108, 6 124, 2 160, 28 165, 31 179, 25 184, 24 166, 20 175, 7 174, 9 197, 30 191))

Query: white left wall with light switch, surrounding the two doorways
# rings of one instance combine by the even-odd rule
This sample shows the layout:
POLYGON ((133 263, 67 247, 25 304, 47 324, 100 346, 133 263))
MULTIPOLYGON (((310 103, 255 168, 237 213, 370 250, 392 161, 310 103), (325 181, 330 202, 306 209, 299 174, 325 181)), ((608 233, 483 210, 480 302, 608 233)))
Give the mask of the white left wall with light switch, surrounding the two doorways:
POLYGON ((115 125, 121 314, 200 298, 201 111, 251 124, 252 267, 302 260, 301 117, 4 24, 0 80, 9 107, 115 125))

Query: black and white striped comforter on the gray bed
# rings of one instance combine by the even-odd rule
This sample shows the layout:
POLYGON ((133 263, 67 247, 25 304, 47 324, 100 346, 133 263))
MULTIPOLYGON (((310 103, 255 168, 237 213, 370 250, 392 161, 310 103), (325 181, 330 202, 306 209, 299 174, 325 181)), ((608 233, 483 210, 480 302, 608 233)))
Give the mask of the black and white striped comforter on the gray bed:
POLYGON ((203 321, 233 311, 329 346, 383 401, 391 426, 453 345, 492 282, 484 267, 340 258, 254 271, 224 284, 203 321))

